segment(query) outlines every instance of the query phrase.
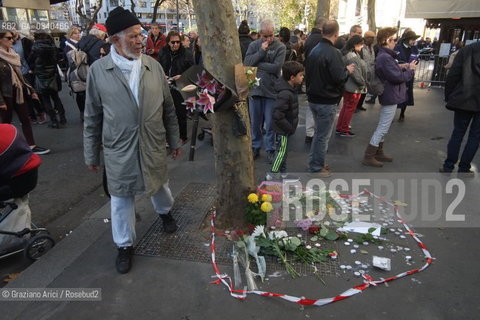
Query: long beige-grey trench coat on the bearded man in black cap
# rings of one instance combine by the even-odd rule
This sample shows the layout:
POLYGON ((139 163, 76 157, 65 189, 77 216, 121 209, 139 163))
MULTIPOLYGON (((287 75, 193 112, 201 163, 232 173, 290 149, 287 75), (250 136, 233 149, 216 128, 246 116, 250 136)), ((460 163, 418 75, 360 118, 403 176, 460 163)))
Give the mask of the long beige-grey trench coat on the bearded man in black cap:
POLYGON ((142 55, 139 102, 110 55, 88 72, 84 155, 100 164, 101 144, 108 188, 114 196, 156 193, 167 181, 167 153, 178 147, 175 107, 160 64, 142 55))

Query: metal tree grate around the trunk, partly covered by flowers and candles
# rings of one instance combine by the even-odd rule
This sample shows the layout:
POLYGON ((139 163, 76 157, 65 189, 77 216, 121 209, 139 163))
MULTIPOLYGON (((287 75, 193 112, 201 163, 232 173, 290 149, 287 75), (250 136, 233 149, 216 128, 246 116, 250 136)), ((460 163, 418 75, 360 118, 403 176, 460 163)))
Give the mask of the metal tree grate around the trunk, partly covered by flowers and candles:
MULTIPOLYGON (((158 218, 135 246, 135 253, 144 256, 160 256, 178 260, 210 263, 210 233, 201 232, 199 228, 205 218, 210 217, 214 206, 216 191, 213 185, 203 183, 188 184, 176 197, 172 215, 177 220, 179 229, 173 234, 163 232, 162 220, 158 218)), ((287 232, 298 233, 297 229, 287 232)), ((303 236, 309 237, 307 232, 303 236)), ((225 237, 216 237, 216 260, 218 264, 231 265, 232 242, 225 237)), ((267 273, 285 272, 283 264, 275 257, 267 256, 267 273)), ((255 262, 252 262, 252 269, 255 262)), ((336 275, 338 263, 329 261, 315 265, 319 275, 336 275)), ((314 268, 303 263, 293 267, 300 274, 313 274, 314 268)))

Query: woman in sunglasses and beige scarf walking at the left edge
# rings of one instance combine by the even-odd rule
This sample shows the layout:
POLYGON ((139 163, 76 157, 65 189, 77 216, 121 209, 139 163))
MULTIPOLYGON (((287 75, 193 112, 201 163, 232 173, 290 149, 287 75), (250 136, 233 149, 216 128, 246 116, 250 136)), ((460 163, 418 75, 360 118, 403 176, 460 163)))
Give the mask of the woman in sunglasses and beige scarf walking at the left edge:
POLYGON ((28 117, 26 97, 38 100, 32 86, 23 78, 20 56, 12 49, 14 37, 10 31, 0 30, 0 117, 2 123, 11 123, 16 112, 22 131, 32 151, 46 154, 50 150, 39 147, 33 138, 32 124, 28 117))

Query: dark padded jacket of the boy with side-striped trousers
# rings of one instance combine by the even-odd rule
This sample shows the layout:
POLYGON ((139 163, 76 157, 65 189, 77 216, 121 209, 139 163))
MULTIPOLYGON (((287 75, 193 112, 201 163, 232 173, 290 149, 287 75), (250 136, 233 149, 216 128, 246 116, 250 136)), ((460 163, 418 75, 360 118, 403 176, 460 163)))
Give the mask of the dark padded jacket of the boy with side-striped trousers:
POLYGON ((273 109, 273 131, 284 136, 292 135, 298 125, 297 92, 283 77, 275 82, 275 90, 278 95, 273 109))

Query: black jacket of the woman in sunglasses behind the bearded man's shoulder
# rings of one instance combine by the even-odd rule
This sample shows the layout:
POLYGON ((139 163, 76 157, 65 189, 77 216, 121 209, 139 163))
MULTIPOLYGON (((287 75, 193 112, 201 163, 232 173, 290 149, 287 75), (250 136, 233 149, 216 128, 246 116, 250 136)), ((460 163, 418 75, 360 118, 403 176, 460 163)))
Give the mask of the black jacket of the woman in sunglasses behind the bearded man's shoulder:
POLYGON ((194 65, 192 53, 182 46, 174 53, 170 50, 170 47, 166 45, 158 55, 158 62, 160 62, 163 71, 165 71, 165 74, 169 77, 182 74, 194 65))

